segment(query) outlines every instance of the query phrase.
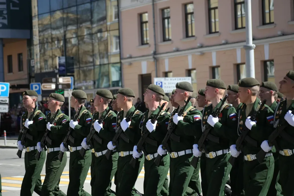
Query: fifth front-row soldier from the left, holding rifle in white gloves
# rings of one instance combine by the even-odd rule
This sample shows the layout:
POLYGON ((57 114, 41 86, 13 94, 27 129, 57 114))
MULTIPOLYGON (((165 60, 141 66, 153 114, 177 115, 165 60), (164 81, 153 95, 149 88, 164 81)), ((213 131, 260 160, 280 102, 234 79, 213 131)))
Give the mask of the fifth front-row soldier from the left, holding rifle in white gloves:
MULTIPOLYGON (((123 129, 123 136, 121 135, 119 138, 117 148, 117 196, 141 195, 141 193, 139 193, 134 186, 144 164, 143 155, 136 159, 135 168, 129 164, 133 158, 133 147, 141 138, 141 131, 138 127, 140 123, 139 117, 142 112, 139 110, 135 111, 131 121, 126 122, 126 116, 130 115, 135 110, 135 106, 133 105, 134 98, 135 93, 130 88, 121 88, 118 90, 116 103, 118 108, 122 108, 123 110, 117 115, 116 126, 121 126, 123 129)), ((113 146, 112 141, 110 141, 107 148, 109 150, 114 150, 116 145, 113 146)))

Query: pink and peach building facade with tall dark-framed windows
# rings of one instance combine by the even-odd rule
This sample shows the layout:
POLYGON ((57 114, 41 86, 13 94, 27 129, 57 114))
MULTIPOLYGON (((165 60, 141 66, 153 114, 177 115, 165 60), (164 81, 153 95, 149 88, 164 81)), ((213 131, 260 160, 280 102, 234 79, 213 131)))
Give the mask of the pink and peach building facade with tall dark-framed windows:
MULTIPOLYGON (((194 91, 246 77, 244 0, 154 2, 121 1, 123 86, 142 98, 154 77, 191 76, 194 91)), ((293 69, 294 1, 251 4, 255 78, 279 86, 293 69)))

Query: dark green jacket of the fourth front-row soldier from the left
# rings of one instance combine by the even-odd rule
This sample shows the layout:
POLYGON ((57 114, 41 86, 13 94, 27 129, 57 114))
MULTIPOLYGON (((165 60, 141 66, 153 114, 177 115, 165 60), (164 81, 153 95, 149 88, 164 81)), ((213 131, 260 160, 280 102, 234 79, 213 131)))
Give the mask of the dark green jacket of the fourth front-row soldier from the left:
MULTIPOLYGON (((106 110, 102 112, 101 115, 105 115, 106 111, 109 108, 107 107, 106 110)), ((100 116, 101 116, 100 115, 100 116)), ((96 112, 93 115, 93 121, 92 121, 92 127, 91 130, 94 129, 94 122, 95 120, 99 120, 99 112, 96 112)), ((116 127, 116 113, 110 110, 110 112, 107 114, 107 117, 103 120, 103 128, 99 131, 99 133, 96 131, 95 134, 102 139, 102 143, 98 143, 95 139, 93 139, 94 144, 94 150, 95 152, 101 152, 103 150, 107 150, 107 144, 109 141, 111 141, 115 135, 115 127, 116 127)))

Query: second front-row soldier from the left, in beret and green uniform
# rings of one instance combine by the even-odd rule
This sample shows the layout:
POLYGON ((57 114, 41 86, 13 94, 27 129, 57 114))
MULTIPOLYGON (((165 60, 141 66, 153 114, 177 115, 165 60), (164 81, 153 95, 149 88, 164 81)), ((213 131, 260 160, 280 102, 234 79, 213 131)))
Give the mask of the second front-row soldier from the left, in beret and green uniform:
MULTIPOLYGON (((47 123, 47 129, 49 133, 47 137, 51 140, 51 144, 46 143, 47 147, 47 158, 46 158, 46 176, 42 185, 41 195, 43 196, 54 196, 54 195, 64 195, 64 192, 59 190, 59 180, 66 166, 67 156, 66 153, 63 155, 63 159, 60 162, 58 160, 58 155, 60 151, 60 143, 65 137, 68 126, 66 122, 70 119, 67 115, 63 114, 61 111, 61 106, 64 103, 64 96, 57 93, 51 93, 49 95, 48 109, 51 111, 47 115, 47 121, 51 121, 55 116, 55 112, 59 109, 59 112, 54 119, 54 123, 47 123)), ((38 146, 38 145, 37 145, 38 146)), ((38 149, 42 151, 43 149, 38 149)))

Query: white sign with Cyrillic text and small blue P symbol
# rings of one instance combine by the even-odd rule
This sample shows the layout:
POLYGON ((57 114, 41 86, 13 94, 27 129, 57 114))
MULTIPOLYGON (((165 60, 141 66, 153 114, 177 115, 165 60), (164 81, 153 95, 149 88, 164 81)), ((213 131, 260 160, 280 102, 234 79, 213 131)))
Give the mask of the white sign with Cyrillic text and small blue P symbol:
POLYGON ((173 92, 173 89, 176 88, 177 82, 189 82, 192 83, 191 77, 166 77, 166 78, 154 78, 154 84, 163 88, 165 93, 173 92))

